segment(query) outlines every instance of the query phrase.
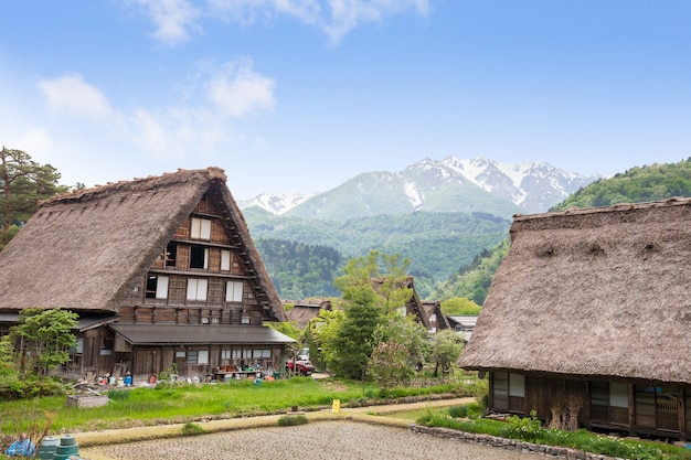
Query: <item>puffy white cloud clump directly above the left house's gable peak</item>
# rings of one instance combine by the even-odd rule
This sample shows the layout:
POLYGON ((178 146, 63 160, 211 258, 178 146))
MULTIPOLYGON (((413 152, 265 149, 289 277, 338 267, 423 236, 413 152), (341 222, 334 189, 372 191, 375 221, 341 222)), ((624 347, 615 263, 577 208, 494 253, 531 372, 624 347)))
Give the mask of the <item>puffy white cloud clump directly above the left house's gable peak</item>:
POLYGON ((208 97, 227 116, 240 118, 275 106, 273 79, 252 69, 252 63, 226 64, 208 83, 208 97))

